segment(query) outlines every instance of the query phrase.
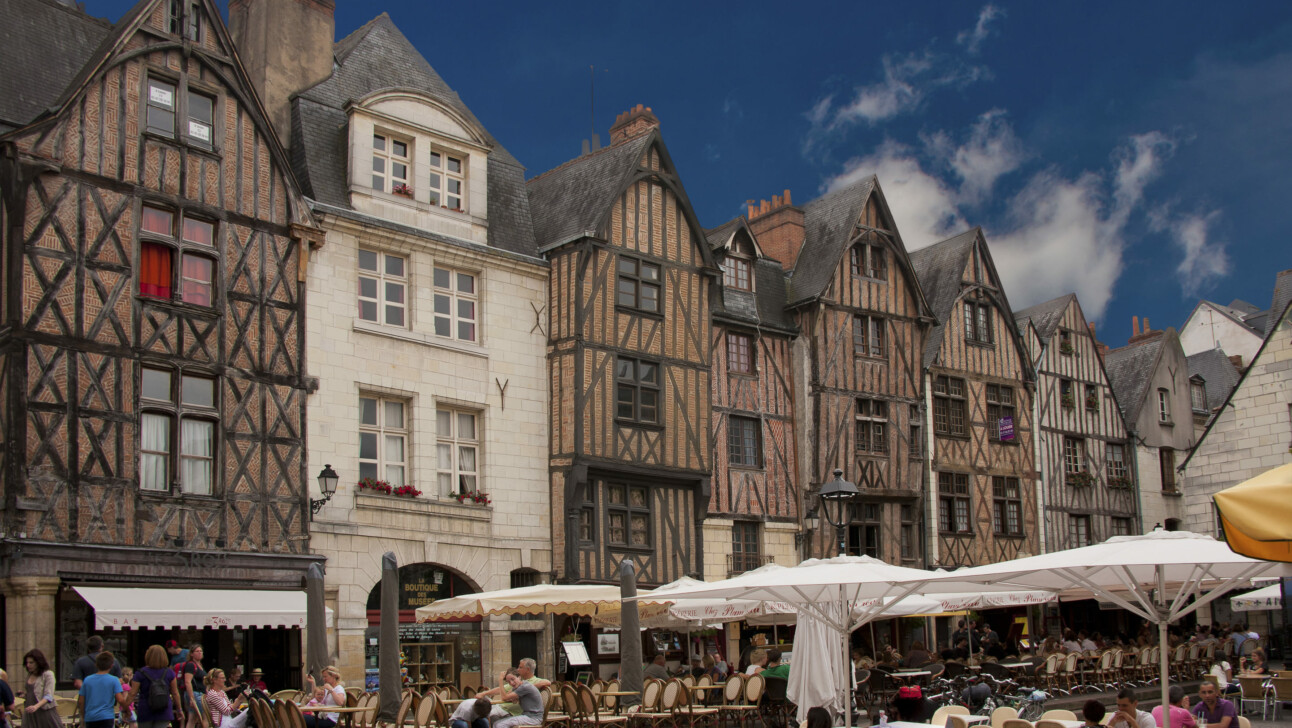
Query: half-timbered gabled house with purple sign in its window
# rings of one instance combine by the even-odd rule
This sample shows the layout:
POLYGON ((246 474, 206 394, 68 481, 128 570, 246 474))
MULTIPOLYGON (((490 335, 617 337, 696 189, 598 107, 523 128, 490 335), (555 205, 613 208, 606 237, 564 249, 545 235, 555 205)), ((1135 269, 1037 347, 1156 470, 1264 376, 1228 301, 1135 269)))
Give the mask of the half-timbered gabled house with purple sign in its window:
POLYGON ((1036 553, 1031 361, 982 230, 911 253, 938 318, 924 348, 930 564, 1036 553))

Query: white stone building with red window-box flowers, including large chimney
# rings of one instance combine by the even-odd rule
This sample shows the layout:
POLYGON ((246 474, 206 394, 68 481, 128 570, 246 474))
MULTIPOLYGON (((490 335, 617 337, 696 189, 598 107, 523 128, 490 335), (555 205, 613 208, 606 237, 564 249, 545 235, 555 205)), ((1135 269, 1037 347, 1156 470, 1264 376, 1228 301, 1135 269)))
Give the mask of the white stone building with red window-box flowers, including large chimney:
POLYGON ((381 556, 399 560, 419 691, 550 665, 540 619, 417 625, 435 599, 536 583, 547 508, 547 262, 525 169, 381 14, 333 44, 331 3, 234 0, 230 25, 326 231, 306 272, 309 472, 336 495, 336 663, 376 669, 381 556), (283 31, 282 28, 291 28, 283 31))

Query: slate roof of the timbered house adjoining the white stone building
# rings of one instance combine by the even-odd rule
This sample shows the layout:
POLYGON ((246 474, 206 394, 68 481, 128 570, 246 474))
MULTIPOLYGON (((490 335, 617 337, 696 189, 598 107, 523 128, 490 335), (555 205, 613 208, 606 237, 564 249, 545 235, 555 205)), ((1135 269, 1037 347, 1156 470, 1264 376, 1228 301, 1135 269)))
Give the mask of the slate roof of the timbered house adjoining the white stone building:
POLYGON ((596 234, 602 219, 658 132, 641 134, 566 162, 528 181, 539 250, 596 234))

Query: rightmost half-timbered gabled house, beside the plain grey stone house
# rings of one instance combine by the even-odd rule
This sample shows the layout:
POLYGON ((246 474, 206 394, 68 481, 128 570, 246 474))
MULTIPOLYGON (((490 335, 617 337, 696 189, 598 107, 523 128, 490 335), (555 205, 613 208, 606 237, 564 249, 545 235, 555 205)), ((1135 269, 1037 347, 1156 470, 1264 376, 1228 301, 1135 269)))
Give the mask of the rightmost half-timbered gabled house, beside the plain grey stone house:
POLYGON ((1041 550, 1140 533, 1125 423, 1076 295, 1016 312, 1014 318, 1034 341, 1041 550))

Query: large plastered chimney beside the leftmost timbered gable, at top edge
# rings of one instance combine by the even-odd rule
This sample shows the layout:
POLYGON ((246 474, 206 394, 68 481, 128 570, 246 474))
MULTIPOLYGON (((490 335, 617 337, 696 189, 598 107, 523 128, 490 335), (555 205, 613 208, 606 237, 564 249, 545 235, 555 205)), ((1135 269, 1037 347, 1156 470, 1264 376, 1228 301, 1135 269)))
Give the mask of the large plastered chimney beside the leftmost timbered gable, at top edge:
POLYGON ((292 94, 332 75, 335 12, 335 0, 229 1, 229 34, 284 147, 292 94))

